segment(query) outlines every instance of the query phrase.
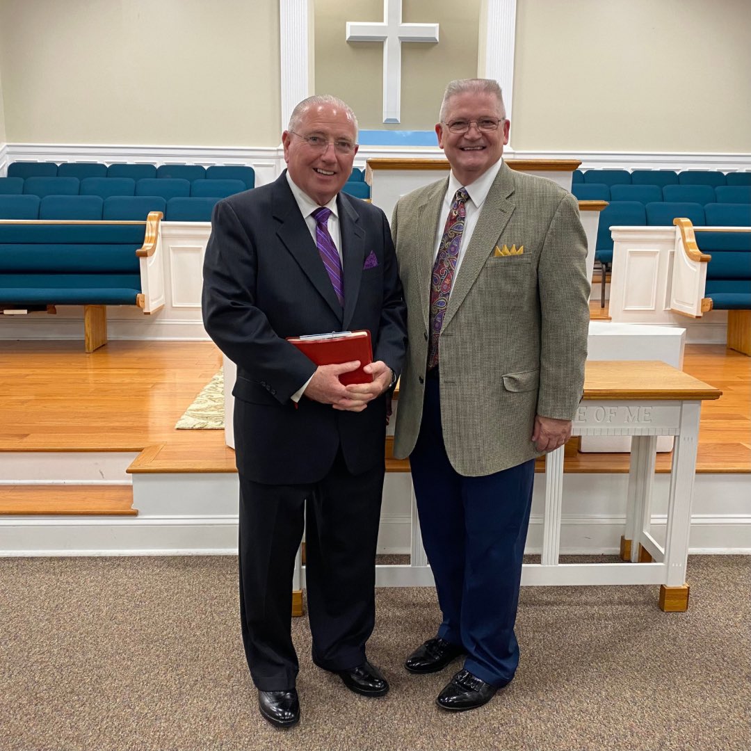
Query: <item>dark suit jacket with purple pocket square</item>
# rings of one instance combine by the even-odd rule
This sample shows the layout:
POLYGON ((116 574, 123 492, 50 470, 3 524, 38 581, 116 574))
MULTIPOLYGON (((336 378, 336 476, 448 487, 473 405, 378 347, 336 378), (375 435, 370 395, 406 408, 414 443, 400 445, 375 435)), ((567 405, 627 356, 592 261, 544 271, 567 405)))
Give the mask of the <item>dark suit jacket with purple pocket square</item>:
POLYGON ((318 481, 339 447, 355 474, 384 461, 385 397, 359 413, 339 412, 304 396, 296 409, 290 399, 315 365, 287 336, 368 329, 374 360, 397 374, 403 363, 406 308, 386 217, 345 194, 339 194, 337 207, 343 310, 286 173, 214 208, 204 259, 204 324, 237 363, 233 393, 243 405, 236 411, 235 433, 245 447, 238 469, 253 481, 318 481))

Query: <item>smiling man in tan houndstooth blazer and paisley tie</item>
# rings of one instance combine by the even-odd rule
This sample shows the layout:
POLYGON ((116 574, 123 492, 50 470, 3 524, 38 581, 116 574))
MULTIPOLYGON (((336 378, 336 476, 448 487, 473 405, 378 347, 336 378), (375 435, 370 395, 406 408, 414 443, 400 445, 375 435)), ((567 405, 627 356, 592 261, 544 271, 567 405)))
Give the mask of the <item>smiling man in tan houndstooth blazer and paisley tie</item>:
POLYGON ((391 229, 409 346, 394 454, 409 456, 443 621, 406 661, 465 656, 436 699, 485 704, 514 677, 534 460, 563 445, 584 385, 587 240, 578 204, 512 171, 501 89, 446 89, 439 146, 451 174, 400 199, 391 229))

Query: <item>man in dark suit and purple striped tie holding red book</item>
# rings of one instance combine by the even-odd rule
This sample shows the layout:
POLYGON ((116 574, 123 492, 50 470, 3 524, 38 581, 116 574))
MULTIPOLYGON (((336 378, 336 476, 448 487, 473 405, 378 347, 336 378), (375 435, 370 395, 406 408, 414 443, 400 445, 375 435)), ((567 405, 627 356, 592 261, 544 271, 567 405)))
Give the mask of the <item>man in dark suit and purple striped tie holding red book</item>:
POLYGON ((375 620, 375 544, 385 472, 385 393, 400 372, 406 309, 388 222, 340 193, 357 120, 339 99, 300 102, 282 134, 276 182, 216 205, 204 262, 204 324, 237 363, 240 620, 261 715, 300 718, 291 641, 294 559, 306 526, 316 665, 381 696, 365 644, 375 620), (288 336, 367 329, 372 382, 358 362, 316 367, 288 336))

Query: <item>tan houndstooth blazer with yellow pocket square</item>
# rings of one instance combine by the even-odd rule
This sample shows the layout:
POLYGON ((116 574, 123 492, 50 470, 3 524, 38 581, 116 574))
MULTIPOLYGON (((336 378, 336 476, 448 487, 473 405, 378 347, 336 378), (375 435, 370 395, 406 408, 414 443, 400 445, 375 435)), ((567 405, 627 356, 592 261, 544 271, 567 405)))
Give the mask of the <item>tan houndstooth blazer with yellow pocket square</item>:
MULTIPOLYGON (((447 187, 448 178, 400 198, 391 222, 409 331, 394 442, 400 459, 420 430, 430 274, 447 187)), ((454 279, 439 342, 443 437, 461 475, 489 475, 537 456, 535 413, 574 417, 587 358, 586 257, 576 199, 502 164, 454 279)))

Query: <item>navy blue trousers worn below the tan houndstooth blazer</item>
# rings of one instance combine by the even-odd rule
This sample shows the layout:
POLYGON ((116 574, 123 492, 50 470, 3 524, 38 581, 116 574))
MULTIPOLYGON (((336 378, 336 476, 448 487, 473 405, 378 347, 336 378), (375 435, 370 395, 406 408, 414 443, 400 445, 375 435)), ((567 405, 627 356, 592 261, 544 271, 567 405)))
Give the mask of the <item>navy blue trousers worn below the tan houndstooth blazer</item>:
POLYGON ((463 645, 466 670, 505 686, 519 663, 514 623, 535 462, 483 477, 456 472, 443 442, 436 378, 425 383, 420 434, 409 461, 443 614, 438 635, 463 645))

